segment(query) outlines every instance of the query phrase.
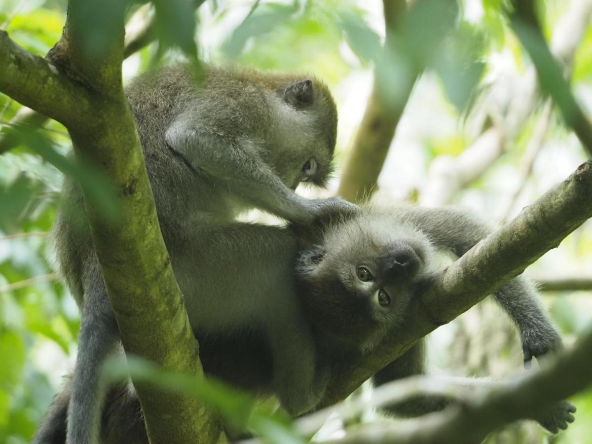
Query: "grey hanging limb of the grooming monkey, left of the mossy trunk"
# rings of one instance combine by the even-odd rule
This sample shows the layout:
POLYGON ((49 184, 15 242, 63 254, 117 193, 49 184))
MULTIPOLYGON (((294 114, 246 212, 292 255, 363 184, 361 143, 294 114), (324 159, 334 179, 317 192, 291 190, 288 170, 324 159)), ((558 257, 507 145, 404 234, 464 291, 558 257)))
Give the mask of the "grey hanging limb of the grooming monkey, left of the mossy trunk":
POLYGON ((66 442, 69 444, 98 442, 104 398, 104 387, 100 378, 101 366, 118 341, 117 323, 98 270, 98 263, 93 268, 92 276, 85 282, 78 355, 67 418, 66 442))

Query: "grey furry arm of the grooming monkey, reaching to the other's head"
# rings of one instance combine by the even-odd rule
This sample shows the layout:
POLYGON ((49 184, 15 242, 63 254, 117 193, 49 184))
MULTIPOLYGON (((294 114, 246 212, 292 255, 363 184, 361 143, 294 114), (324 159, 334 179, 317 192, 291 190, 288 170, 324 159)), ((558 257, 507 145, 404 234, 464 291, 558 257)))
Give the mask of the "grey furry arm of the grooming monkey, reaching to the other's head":
POLYGON ((176 118, 166 130, 165 139, 193 169, 220 181, 242 200, 286 220, 308 222, 323 209, 352 207, 338 198, 300 197, 263 161, 253 141, 201 131, 190 112, 176 118))

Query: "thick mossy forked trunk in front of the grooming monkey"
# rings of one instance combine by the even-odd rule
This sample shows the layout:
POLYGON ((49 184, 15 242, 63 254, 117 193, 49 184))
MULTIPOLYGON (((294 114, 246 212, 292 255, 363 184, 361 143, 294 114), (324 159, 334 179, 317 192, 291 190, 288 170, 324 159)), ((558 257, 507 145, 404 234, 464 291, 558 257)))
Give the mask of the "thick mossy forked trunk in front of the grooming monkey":
MULTIPOLYGON (((169 371, 202 375, 198 343, 160 234, 155 202, 121 79, 123 4, 70 0, 64 33, 47 56, 0 34, 0 91, 66 125, 78 159, 101 169, 120 214, 86 215, 126 353, 169 371), (89 112, 92 110, 92 112, 89 112), (75 116, 75 117, 73 117, 75 116)), ((136 384, 152 443, 214 442, 217 419, 194 398, 136 384)))

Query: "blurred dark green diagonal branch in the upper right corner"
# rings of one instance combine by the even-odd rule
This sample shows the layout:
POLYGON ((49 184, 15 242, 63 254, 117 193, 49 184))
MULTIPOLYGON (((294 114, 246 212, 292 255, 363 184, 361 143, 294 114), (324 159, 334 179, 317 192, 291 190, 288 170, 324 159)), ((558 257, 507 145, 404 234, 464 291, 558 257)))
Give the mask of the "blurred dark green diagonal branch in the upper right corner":
POLYGON ((592 157, 592 125, 575 100, 570 84, 565 81, 561 66, 549 50, 533 2, 514 1, 513 7, 514 10, 509 14, 511 27, 535 65, 541 88, 551 96, 565 123, 574 130, 592 157))

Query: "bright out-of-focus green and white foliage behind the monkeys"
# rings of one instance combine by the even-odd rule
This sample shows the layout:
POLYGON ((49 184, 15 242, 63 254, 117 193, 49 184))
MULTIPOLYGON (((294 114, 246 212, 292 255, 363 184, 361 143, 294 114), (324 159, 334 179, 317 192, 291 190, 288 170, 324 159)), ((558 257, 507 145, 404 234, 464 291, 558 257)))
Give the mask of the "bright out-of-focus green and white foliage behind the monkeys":
MULTIPOLYGON (((557 28, 578 3, 590 2, 539 1, 552 47, 565 37, 557 28)), ((503 0, 461 2, 455 33, 440 47, 433 70, 414 86, 378 179, 378 198, 461 204, 501 224, 585 160, 578 140, 536 92, 530 60, 509 30, 503 5, 503 0)), ((65 10, 65 0, 2 0, 0 29, 43 56, 59 40, 65 10)), ((382 52, 382 2, 208 0, 196 14, 195 41, 202 60, 298 70, 329 83, 339 109, 336 162, 342 166, 382 52)), ((561 53, 561 41, 557 46, 566 66, 572 66, 572 88, 589 115, 588 20, 572 61, 561 53)), ((179 38, 186 41, 186 36, 179 38)), ((126 59, 124 77, 180 57, 152 43, 126 59)), ((57 279, 49 239, 62 173, 78 173, 99 189, 98 200, 104 198, 101 179, 64 157, 69 146, 65 128, 55 121, 40 130, 15 127, 11 120, 20 108, 0 94, 1 131, 17 138, 17 146, 0 156, 0 443, 11 444, 31 438, 76 353, 78 310, 57 279)), ((329 191, 334 193, 338 184, 339 168, 329 191)), ((527 274, 540 280, 592 278, 592 224, 584 224, 527 274)), ((568 344, 592 320, 590 289, 545 292, 543 304, 568 344)), ((432 334, 434 371, 476 376, 516 372, 522 350, 500 313, 485 301, 432 334)), ((588 443, 592 391, 572 402, 577 420, 557 437, 524 423, 491 435, 488 442, 588 443)), ((369 412, 360 420, 382 419, 369 412)), ((339 427, 339 422, 329 424, 324 433, 339 427)))

